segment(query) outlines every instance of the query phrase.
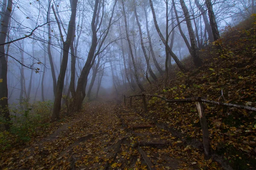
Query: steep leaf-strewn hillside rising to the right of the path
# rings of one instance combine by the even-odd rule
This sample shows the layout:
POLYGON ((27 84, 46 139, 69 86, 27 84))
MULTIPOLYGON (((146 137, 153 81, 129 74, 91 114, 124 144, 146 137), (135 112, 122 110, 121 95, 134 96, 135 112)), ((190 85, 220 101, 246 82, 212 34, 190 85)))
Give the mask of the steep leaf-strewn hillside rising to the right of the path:
MULTIPOLYGON (((203 67, 195 68, 192 59, 187 58, 183 63, 189 68, 188 72, 182 73, 174 66, 167 89, 163 89, 163 79, 160 78, 154 85, 147 86, 145 93, 158 94, 167 99, 201 96, 208 100, 256 106, 254 18, 244 21, 236 28, 226 28, 221 40, 201 50, 200 56, 204 61, 203 67), (219 43, 221 51, 216 48, 219 43)), ((174 103, 167 107, 165 102, 156 97, 148 97, 147 101, 147 116, 168 124, 186 140, 202 141, 199 116, 194 104, 174 103)), ((133 105, 143 109, 139 98, 133 101, 133 105)), ((208 104, 204 105, 204 109, 212 152, 222 156, 234 169, 254 169, 256 113, 208 104)))

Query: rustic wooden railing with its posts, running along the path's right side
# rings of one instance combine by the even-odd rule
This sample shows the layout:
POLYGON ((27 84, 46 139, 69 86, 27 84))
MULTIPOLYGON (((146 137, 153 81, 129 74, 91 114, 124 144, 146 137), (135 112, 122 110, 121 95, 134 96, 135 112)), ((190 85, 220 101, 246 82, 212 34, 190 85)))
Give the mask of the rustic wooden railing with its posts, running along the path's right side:
POLYGON ((256 111, 256 108, 253 108, 253 107, 244 106, 244 105, 235 105, 235 104, 223 103, 223 102, 215 102, 215 101, 212 101, 212 100, 201 99, 201 97, 186 98, 186 99, 166 99, 163 96, 151 95, 151 94, 139 94, 139 95, 133 95, 133 96, 128 96, 128 97, 123 95, 124 105, 126 105, 126 98, 130 99, 129 100, 129 107, 131 108, 132 107, 132 98, 133 97, 142 97, 144 111, 147 112, 148 109, 147 109, 146 96, 160 98, 160 99, 164 100, 166 103, 195 102, 196 108, 197 108, 198 113, 199 113, 201 128, 202 128, 202 132, 203 132, 204 154, 207 157, 210 156, 210 142, 209 142, 209 130, 208 130, 208 125, 207 125, 207 119, 206 119, 205 114, 204 114, 204 105, 203 105, 203 103, 227 106, 227 107, 232 107, 232 108, 240 108, 240 109, 245 109, 245 110, 248 110, 248 111, 256 111))

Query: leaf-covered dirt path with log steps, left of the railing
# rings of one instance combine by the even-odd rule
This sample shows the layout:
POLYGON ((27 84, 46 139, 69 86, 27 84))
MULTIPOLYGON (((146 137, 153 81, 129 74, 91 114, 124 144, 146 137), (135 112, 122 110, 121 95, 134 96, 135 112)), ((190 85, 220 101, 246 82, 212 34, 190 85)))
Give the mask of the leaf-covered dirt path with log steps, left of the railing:
MULTIPOLYGON (((200 150, 116 102, 90 102, 74 117, 52 134, 0 153, 0 169, 193 170, 204 161, 200 150)), ((212 160, 204 165, 217 169, 212 160)))

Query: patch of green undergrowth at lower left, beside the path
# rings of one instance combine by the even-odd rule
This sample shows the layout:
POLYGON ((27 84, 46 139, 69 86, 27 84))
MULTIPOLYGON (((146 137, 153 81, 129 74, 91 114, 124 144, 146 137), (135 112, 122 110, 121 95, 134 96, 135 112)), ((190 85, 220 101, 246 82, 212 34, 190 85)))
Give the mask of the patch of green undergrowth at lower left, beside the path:
MULTIPOLYGON (((35 133, 34 129, 49 122, 53 103, 36 101, 32 104, 22 100, 9 105, 11 114, 10 130, 0 132, 0 150, 6 150, 15 143, 28 142, 35 133)), ((0 124, 6 123, 0 117, 0 124)))

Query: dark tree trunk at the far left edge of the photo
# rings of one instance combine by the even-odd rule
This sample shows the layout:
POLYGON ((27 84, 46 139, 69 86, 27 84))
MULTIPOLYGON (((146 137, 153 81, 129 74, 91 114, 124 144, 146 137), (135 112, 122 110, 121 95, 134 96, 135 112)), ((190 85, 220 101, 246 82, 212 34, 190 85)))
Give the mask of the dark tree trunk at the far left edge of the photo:
MULTIPOLYGON (((4 6, 3 6, 4 7, 4 6)), ((2 8, 3 8, 2 7, 2 8)), ((7 8, 5 9, 5 13, 1 17, 1 34, 0 34, 0 44, 5 43, 6 36, 8 32, 8 25, 11 20, 11 12, 12 12, 12 0, 8 0, 7 8)), ((0 46, 0 115, 4 117, 6 123, 4 127, 6 130, 10 129, 10 113, 8 107, 8 85, 7 85, 7 70, 8 65, 6 61, 6 54, 4 45, 0 46)))

